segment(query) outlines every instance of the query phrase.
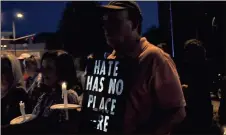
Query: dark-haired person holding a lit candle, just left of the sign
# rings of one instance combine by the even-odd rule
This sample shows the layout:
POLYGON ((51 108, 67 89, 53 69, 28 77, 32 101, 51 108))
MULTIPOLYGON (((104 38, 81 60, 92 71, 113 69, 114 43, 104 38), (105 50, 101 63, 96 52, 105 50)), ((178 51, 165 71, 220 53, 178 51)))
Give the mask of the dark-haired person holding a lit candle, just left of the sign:
MULTIPOLYGON (((62 83, 66 82, 69 104, 81 104, 76 90, 80 89, 76 78, 76 68, 71 55, 62 50, 48 51, 41 59, 42 81, 40 87, 30 93, 33 106, 32 114, 36 118, 21 125, 14 126, 19 133, 65 133, 68 125, 75 128, 77 111, 68 110, 69 120, 66 120, 65 110, 51 110, 55 104, 63 104, 62 83), (35 98, 34 98, 35 97, 35 98)), ((75 130, 73 130, 75 132, 75 130)))

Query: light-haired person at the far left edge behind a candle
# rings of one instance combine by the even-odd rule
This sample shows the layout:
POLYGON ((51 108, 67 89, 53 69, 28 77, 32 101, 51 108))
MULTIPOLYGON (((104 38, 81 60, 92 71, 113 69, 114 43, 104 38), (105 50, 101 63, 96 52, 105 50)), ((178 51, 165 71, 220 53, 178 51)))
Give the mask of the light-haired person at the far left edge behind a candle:
POLYGON ((10 121, 21 116, 19 102, 26 104, 26 112, 31 111, 20 63, 10 53, 1 55, 1 128, 9 126, 10 121))

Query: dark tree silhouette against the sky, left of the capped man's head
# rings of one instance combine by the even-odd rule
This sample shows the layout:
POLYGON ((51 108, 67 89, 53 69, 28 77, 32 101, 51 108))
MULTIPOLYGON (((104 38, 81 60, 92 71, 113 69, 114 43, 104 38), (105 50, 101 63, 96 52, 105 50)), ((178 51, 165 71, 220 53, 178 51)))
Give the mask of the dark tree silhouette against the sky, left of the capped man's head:
POLYGON ((107 49, 99 5, 96 1, 73 1, 65 7, 57 33, 64 49, 75 57, 101 55, 107 49))

